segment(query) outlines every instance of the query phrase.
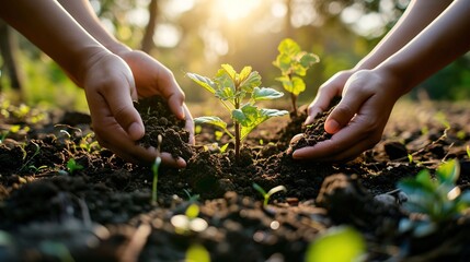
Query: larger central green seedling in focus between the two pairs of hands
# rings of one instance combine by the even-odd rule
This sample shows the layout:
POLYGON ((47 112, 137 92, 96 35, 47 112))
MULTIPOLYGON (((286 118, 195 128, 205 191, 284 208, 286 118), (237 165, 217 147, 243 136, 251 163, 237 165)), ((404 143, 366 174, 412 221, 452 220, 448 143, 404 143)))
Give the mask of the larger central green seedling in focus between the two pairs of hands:
POLYGON ((230 64, 222 64, 214 79, 195 73, 186 74, 198 85, 217 97, 230 112, 233 120, 233 130, 219 117, 195 118, 196 124, 209 123, 220 128, 234 140, 236 159, 240 158, 240 144, 247 135, 260 123, 272 117, 287 115, 286 110, 257 108, 260 100, 270 100, 282 97, 284 94, 270 87, 260 87, 261 76, 251 67, 244 67, 240 73, 230 64))

